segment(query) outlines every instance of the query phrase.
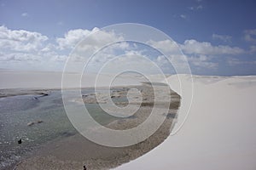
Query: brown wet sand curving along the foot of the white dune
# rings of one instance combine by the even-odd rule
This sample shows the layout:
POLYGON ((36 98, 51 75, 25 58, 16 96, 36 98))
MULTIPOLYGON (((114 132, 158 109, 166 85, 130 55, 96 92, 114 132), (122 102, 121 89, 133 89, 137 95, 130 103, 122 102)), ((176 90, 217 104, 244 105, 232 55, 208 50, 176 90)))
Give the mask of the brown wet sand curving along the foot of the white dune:
MULTIPOLYGON (((106 127, 112 129, 127 129, 136 127, 142 123, 152 111, 154 98, 152 89, 147 85, 138 87, 143 92, 143 103, 140 109, 130 118, 116 120, 109 123, 106 127)), ((127 93, 128 88, 113 90, 113 99, 122 98, 127 93)), ((160 128, 143 142, 127 147, 113 148, 95 144, 85 139, 79 133, 68 136, 65 139, 55 139, 44 144, 39 150, 26 160, 20 161, 15 169, 83 169, 84 164, 87 169, 110 169, 143 156, 157 145, 162 143, 170 134, 173 126, 173 119, 176 117, 177 109, 180 104, 179 95, 170 93, 172 103, 169 111, 161 116, 166 116, 165 122, 160 128)), ((170 95, 168 94, 168 95, 170 95)), ((96 103, 93 94, 84 96, 84 103, 96 103), (92 96, 92 97, 91 97, 92 96)), ((116 105, 127 105, 125 102, 116 102, 116 105)), ((136 105, 136 103, 134 104, 136 105)))

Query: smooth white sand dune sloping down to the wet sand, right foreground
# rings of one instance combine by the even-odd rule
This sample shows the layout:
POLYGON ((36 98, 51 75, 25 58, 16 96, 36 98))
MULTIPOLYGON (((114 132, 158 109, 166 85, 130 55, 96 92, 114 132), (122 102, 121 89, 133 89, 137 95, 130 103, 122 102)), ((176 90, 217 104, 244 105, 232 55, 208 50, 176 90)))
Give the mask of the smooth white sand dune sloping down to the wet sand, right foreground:
MULTIPOLYGON (((181 75, 181 82, 190 83, 181 75)), ((256 77, 194 76, 194 99, 187 121, 148 154, 116 169, 256 169, 256 77)), ((177 77, 168 78, 180 93, 177 77)), ((183 86, 186 88, 187 86, 183 86)), ((179 116, 183 116, 186 94, 179 116)))

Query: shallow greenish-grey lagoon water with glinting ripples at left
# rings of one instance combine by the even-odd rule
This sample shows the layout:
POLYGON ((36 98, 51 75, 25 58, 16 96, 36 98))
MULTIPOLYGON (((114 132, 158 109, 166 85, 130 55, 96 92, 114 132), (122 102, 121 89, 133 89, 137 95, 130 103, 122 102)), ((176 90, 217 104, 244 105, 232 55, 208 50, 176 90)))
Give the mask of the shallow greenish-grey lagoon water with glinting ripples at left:
MULTIPOLYGON (((83 91, 83 94, 90 93, 90 89, 83 91)), ((97 122, 104 125, 113 121, 98 105, 87 104, 86 107, 97 122)), ((59 90, 44 97, 2 98, 0 108, 0 169, 8 169, 40 144, 77 133, 67 118, 59 90), (27 126, 28 122, 38 121, 43 122, 27 126), (19 139, 22 144, 18 144, 19 139)))

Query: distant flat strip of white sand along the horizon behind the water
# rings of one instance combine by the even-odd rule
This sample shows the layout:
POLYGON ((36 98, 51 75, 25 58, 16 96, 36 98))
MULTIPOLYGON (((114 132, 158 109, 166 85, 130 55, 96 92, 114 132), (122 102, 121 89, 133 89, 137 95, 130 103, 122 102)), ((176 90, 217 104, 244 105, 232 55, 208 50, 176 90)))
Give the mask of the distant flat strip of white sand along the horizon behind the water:
MULTIPOLYGON (((68 82, 65 88, 79 88, 81 75, 78 73, 68 73, 68 82)), ((84 73, 81 79, 81 86, 83 88, 94 87, 96 81, 96 74, 84 73)), ((0 70, 0 89, 3 88, 61 88, 62 72, 50 71, 9 71, 0 70)), ((98 86, 108 86, 109 80, 112 80, 111 75, 105 74, 98 78, 98 86)), ((154 81, 159 82, 161 78, 154 76, 154 81)), ((139 85, 140 82, 145 82, 144 77, 138 75, 124 74, 113 80, 114 86, 128 86, 139 85)))

